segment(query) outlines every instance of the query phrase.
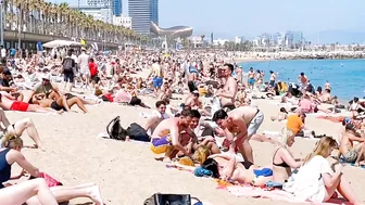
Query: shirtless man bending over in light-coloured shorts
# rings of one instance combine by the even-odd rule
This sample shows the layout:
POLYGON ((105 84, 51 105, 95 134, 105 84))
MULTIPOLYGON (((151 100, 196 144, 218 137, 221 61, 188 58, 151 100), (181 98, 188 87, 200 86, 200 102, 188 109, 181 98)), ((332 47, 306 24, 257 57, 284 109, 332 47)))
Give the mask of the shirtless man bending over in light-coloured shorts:
POLYGON ((226 139, 230 142, 229 152, 235 152, 237 146, 244 161, 253 163, 249 140, 263 123, 264 114, 256 107, 241 106, 228 113, 219 110, 214 113, 212 120, 225 130, 226 139))

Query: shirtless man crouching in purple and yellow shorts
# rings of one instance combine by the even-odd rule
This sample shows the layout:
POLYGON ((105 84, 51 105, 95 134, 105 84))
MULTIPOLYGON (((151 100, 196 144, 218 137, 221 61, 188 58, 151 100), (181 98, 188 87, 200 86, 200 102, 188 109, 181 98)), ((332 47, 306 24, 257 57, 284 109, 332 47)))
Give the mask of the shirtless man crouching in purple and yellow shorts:
POLYGON ((154 154, 165 153, 165 159, 171 161, 180 151, 185 156, 191 156, 186 146, 190 139, 197 141, 196 133, 190 129, 192 120, 191 110, 185 110, 179 117, 162 120, 152 133, 151 150, 154 154), (186 131, 188 134, 181 136, 186 131), (182 138, 187 137, 187 138, 182 138))

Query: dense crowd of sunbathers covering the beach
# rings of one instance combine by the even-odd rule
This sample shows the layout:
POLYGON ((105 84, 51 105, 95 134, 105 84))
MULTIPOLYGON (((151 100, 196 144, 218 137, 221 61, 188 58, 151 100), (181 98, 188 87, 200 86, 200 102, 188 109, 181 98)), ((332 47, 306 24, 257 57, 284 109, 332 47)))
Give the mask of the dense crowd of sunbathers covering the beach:
MULTIPOLYGON (((265 82, 264 72, 255 74, 253 68, 246 79, 243 68, 225 63, 225 56, 224 52, 168 55, 140 52, 104 56, 88 54, 85 49, 76 56, 70 49, 64 56, 45 54, 28 60, 10 59, 0 67, 0 106, 5 111, 60 114, 71 111, 76 104, 87 113, 85 104, 96 104, 99 100, 150 107, 138 98, 150 95, 156 99, 156 111, 143 128, 151 133, 151 151, 164 154, 164 161, 177 159, 174 165, 194 170, 199 166, 209 176, 230 182, 263 185, 274 181, 303 201, 326 202, 337 197, 336 191, 339 191, 351 203, 360 204, 343 177, 342 166, 331 166, 326 158, 339 149, 339 157, 343 161, 364 164, 362 121, 353 117, 343 120, 339 146, 335 139, 323 137, 304 159, 295 158, 290 152, 295 136, 301 136, 301 132, 307 136, 304 126, 307 113, 331 112, 319 108, 320 103, 338 105, 336 98, 330 97, 330 85, 326 84, 325 93, 322 93, 319 88, 314 91, 303 73, 298 78, 298 86, 278 81, 274 72, 270 72, 269 82, 265 82), (149 68, 146 79, 134 76, 149 68), (56 84, 61 81, 64 82, 63 89, 56 84), (72 91, 74 88, 83 88, 95 97, 83 98, 85 95, 72 91), (268 98, 280 95, 282 103, 298 105, 291 113, 280 108, 281 113, 272 117, 287 120, 279 139, 257 133, 264 113, 252 104, 252 92, 256 90, 265 91, 268 98), (187 94, 187 98, 175 106, 171 103, 176 100, 175 94, 187 94), (224 139, 223 143, 218 143, 217 138, 224 139), (260 167, 254 164, 250 140, 277 145, 270 165, 260 167), (354 145, 355 141, 357 145, 354 145), (237 159, 237 154, 242 155, 242 162, 237 159)), ((361 112, 363 106, 358 99, 352 103, 357 103, 352 107, 361 112)), ((46 150, 33 121, 26 118, 11 124, 2 110, 0 116, 5 133, 0 150, 1 202, 5 201, 7 205, 56 204, 87 196, 96 204, 102 204, 99 188, 93 183, 49 188, 40 178, 42 172, 20 152, 23 148, 20 137, 24 130, 35 141, 36 148, 46 150), (13 177, 11 166, 14 163, 23 171, 13 177), (29 180, 13 183, 12 179, 24 176, 29 180)))

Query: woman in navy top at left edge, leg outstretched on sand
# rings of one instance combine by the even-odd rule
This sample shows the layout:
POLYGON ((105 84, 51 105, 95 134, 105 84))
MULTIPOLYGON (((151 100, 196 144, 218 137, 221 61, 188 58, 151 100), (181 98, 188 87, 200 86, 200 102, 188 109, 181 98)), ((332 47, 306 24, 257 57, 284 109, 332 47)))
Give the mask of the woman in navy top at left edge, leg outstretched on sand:
MULTIPOLYGON (((0 190, 5 187, 12 187, 13 182, 10 180, 20 179, 25 172, 28 172, 30 178, 39 178, 40 171, 33 166, 22 154, 23 140, 16 138, 14 134, 5 134, 2 138, 2 146, 0 149, 0 190), (23 171, 16 176, 11 177, 12 165, 16 163, 23 168, 23 171)), ((23 182, 18 182, 22 184, 23 182)), ((77 187, 52 187, 50 188, 52 194, 59 203, 66 202, 76 197, 89 197, 97 205, 103 205, 99 187, 95 183, 87 183, 77 187)), ((26 201, 27 204, 39 204, 38 197, 32 197, 26 201)))

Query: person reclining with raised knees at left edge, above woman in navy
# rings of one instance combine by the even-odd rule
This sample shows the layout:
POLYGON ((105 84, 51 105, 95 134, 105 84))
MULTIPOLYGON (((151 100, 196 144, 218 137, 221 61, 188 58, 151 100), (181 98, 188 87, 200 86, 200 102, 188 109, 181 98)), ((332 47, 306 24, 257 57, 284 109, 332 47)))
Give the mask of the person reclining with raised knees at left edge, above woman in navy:
POLYGON ((24 130, 27 130, 29 138, 36 143, 36 148, 45 151, 43 143, 39 139, 38 131, 30 118, 21 119, 14 124, 10 124, 5 112, 0 108, 0 130, 4 133, 12 133, 16 137, 21 137, 24 130))

